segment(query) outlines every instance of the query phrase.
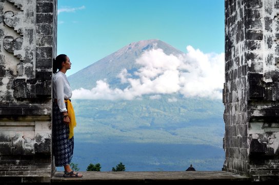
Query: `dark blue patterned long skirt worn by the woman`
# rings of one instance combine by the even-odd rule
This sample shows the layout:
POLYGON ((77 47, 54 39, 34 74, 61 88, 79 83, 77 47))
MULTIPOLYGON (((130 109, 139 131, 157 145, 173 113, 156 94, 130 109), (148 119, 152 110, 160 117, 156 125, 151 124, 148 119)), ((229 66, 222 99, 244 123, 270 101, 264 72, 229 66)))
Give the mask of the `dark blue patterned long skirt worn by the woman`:
POLYGON ((52 108, 52 151, 54 154, 55 166, 64 167, 70 164, 72 160, 74 137, 68 139, 69 125, 63 122, 63 115, 59 110, 57 102, 53 102, 52 108))

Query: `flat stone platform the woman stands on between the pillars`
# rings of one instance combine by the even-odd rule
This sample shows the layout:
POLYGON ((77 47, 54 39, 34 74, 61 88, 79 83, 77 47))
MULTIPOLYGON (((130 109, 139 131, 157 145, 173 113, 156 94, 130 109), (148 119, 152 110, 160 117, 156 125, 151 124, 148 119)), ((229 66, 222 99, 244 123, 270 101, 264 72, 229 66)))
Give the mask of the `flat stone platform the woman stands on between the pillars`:
POLYGON ((81 173, 81 178, 65 178, 63 172, 56 172, 51 184, 251 184, 249 177, 225 171, 81 173))

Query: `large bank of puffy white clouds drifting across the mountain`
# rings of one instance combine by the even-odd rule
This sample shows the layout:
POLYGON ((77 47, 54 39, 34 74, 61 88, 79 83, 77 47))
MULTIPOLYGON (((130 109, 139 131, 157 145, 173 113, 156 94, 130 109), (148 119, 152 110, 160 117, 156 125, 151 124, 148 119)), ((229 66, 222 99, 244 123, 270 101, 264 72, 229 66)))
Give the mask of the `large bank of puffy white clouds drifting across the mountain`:
POLYGON ((222 99, 225 54, 206 54, 191 46, 187 51, 180 56, 167 55, 160 48, 146 51, 136 60, 142 66, 134 73, 138 78, 131 78, 127 69, 117 76, 129 84, 127 88, 111 89, 105 80, 99 80, 91 90, 73 90, 72 98, 132 100, 150 95, 150 99, 157 99, 163 94, 180 93, 185 97, 222 99))

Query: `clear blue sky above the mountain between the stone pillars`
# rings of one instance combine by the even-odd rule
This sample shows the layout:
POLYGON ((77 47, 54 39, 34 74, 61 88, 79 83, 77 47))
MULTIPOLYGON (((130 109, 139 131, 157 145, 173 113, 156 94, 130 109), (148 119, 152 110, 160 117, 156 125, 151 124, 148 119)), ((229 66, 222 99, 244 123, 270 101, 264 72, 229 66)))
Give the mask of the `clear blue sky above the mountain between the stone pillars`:
POLYGON ((67 76, 141 40, 158 39, 187 52, 223 53, 224 0, 58 0, 57 54, 72 62, 67 76))

